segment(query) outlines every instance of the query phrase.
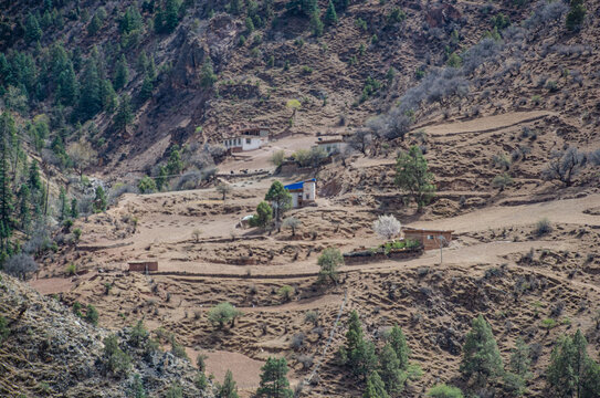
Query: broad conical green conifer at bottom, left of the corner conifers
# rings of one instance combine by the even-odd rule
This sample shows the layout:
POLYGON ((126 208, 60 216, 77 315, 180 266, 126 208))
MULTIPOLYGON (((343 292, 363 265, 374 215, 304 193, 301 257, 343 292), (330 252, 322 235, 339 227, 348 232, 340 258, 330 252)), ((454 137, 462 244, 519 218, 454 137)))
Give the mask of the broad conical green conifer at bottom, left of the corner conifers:
POLYGON ((466 335, 461 373, 467 379, 474 376, 477 386, 485 386, 491 378, 503 373, 502 358, 492 327, 481 314, 473 320, 472 328, 466 335))

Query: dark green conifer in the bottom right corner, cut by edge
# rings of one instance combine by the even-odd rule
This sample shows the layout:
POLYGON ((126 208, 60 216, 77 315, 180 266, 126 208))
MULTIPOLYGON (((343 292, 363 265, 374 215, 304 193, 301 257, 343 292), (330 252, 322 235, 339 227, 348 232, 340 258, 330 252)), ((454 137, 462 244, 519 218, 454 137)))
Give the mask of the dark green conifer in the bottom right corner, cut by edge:
POLYGON ((591 398, 600 390, 600 368, 587 352, 588 342, 577 331, 559 339, 550 355, 546 378, 557 397, 591 398))

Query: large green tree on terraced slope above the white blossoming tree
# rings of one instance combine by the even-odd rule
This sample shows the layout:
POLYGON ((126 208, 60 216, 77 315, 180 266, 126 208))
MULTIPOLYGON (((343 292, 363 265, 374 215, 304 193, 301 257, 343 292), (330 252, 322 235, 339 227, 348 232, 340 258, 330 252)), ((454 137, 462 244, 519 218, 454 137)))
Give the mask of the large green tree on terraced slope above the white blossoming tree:
POLYGON ((435 192, 433 175, 428 170, 428 161, 417 145, 396 163, 396 184, 417 202, 419 210, 425 206, 435 192))

